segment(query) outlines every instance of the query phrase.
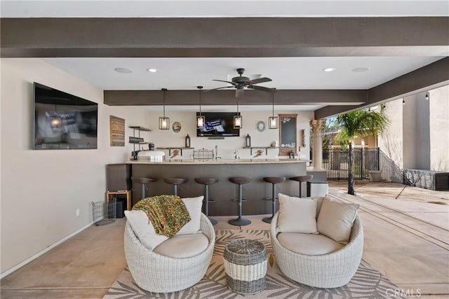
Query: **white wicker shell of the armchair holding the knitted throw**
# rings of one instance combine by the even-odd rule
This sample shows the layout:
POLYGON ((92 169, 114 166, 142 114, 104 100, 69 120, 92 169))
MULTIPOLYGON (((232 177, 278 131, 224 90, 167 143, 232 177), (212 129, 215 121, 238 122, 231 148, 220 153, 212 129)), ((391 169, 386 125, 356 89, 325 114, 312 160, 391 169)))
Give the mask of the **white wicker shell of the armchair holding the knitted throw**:
POLYGON ((205 251, 189 258, 170 258, 143 246, 127 222, 125 257, 136 284, 146 291, 170 293, 189 288, 200 281, 206 274, 215 245, 213 225, 204 214, 201 214, 201 230, 209 239, 205 251))

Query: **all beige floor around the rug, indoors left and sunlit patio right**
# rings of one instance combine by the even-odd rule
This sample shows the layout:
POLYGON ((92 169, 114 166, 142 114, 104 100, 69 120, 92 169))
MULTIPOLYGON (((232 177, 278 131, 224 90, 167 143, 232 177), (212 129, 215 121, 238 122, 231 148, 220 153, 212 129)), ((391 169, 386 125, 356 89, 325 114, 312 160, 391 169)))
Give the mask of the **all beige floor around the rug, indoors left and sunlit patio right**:
MULTIPOLYGON (((449 192, 360 182, 354 197, 345 184, 330 183, 330 196, 361 204, 363 258, 409 294, 449 298, 449 192)), ((263 215, 245 217, 242 229, 269 229, 263 215)), ((234 216, 213 218, 217 230, 239 229, 227 223, 234 216)), ((93 225, 44 253, 1 279, 0 298, 102 298, 126 265, 124 224, 93 225)))

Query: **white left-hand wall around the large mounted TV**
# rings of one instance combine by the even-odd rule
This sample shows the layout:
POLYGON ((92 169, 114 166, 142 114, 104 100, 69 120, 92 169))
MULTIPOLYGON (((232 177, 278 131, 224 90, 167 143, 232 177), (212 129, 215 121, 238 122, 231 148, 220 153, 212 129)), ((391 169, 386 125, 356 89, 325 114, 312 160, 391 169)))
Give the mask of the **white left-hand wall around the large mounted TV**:
POLYGON ((102 102, 102 90, 42 60, 1 59, 1 274, 92 222, 91 202, 105 199, 105 165, 132 150, 109 146, 109 115, 126 127, 149 125, 147 111, 102 102), (98 149, 31 149, 34 81, 99 104, 98 149))

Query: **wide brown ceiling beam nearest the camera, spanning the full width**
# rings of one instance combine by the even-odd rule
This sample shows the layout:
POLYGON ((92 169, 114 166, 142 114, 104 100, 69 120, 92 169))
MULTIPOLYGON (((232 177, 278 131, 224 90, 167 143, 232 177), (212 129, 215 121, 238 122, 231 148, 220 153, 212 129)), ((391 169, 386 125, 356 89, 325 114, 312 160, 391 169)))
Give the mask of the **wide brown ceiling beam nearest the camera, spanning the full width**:
POLYGON ((1 18, 1 57, 448 55, 448 17, 1 18))

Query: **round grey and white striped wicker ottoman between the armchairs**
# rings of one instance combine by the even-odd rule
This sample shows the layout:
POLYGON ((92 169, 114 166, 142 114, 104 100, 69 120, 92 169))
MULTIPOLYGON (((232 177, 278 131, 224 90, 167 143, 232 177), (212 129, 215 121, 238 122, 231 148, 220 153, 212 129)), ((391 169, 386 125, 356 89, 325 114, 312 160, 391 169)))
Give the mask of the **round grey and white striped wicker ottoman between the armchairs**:
POLYGON ((232 291, 253 294, 264 290, 267 274, 264 244, 251 239, 234 240, 227 244, 223 259, 226 282, 232 291))

